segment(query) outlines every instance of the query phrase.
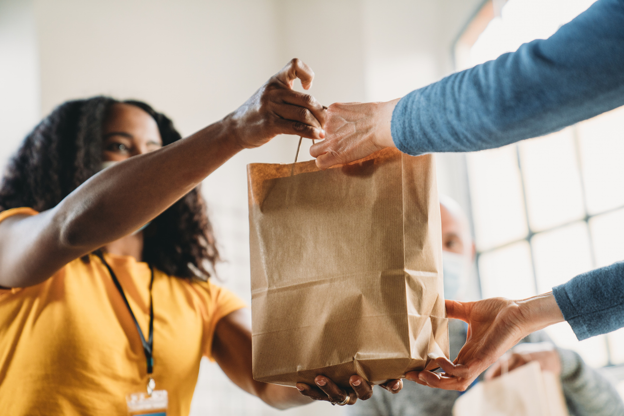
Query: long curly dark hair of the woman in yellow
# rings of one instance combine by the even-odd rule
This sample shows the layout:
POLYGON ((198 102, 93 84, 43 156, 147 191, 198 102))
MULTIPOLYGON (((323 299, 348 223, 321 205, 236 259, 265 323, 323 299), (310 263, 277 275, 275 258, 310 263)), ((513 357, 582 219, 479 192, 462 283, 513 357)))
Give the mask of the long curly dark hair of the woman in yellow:
MULTIPOLYGON (((81 183, 100 171, 103 127, 110 97, 72 100, 43 119, 12 157, 0 183, 0 211, 29 206, 41 212, 56 206, 81 183)), ((167 116, 144 102, 127 100, 151 115, 163 145, 180 140, 167 116)), ((143 258, 179 278, 210 277, 219 259, 212 225, 200 188, 187 193, 144 231, 143 258)))

